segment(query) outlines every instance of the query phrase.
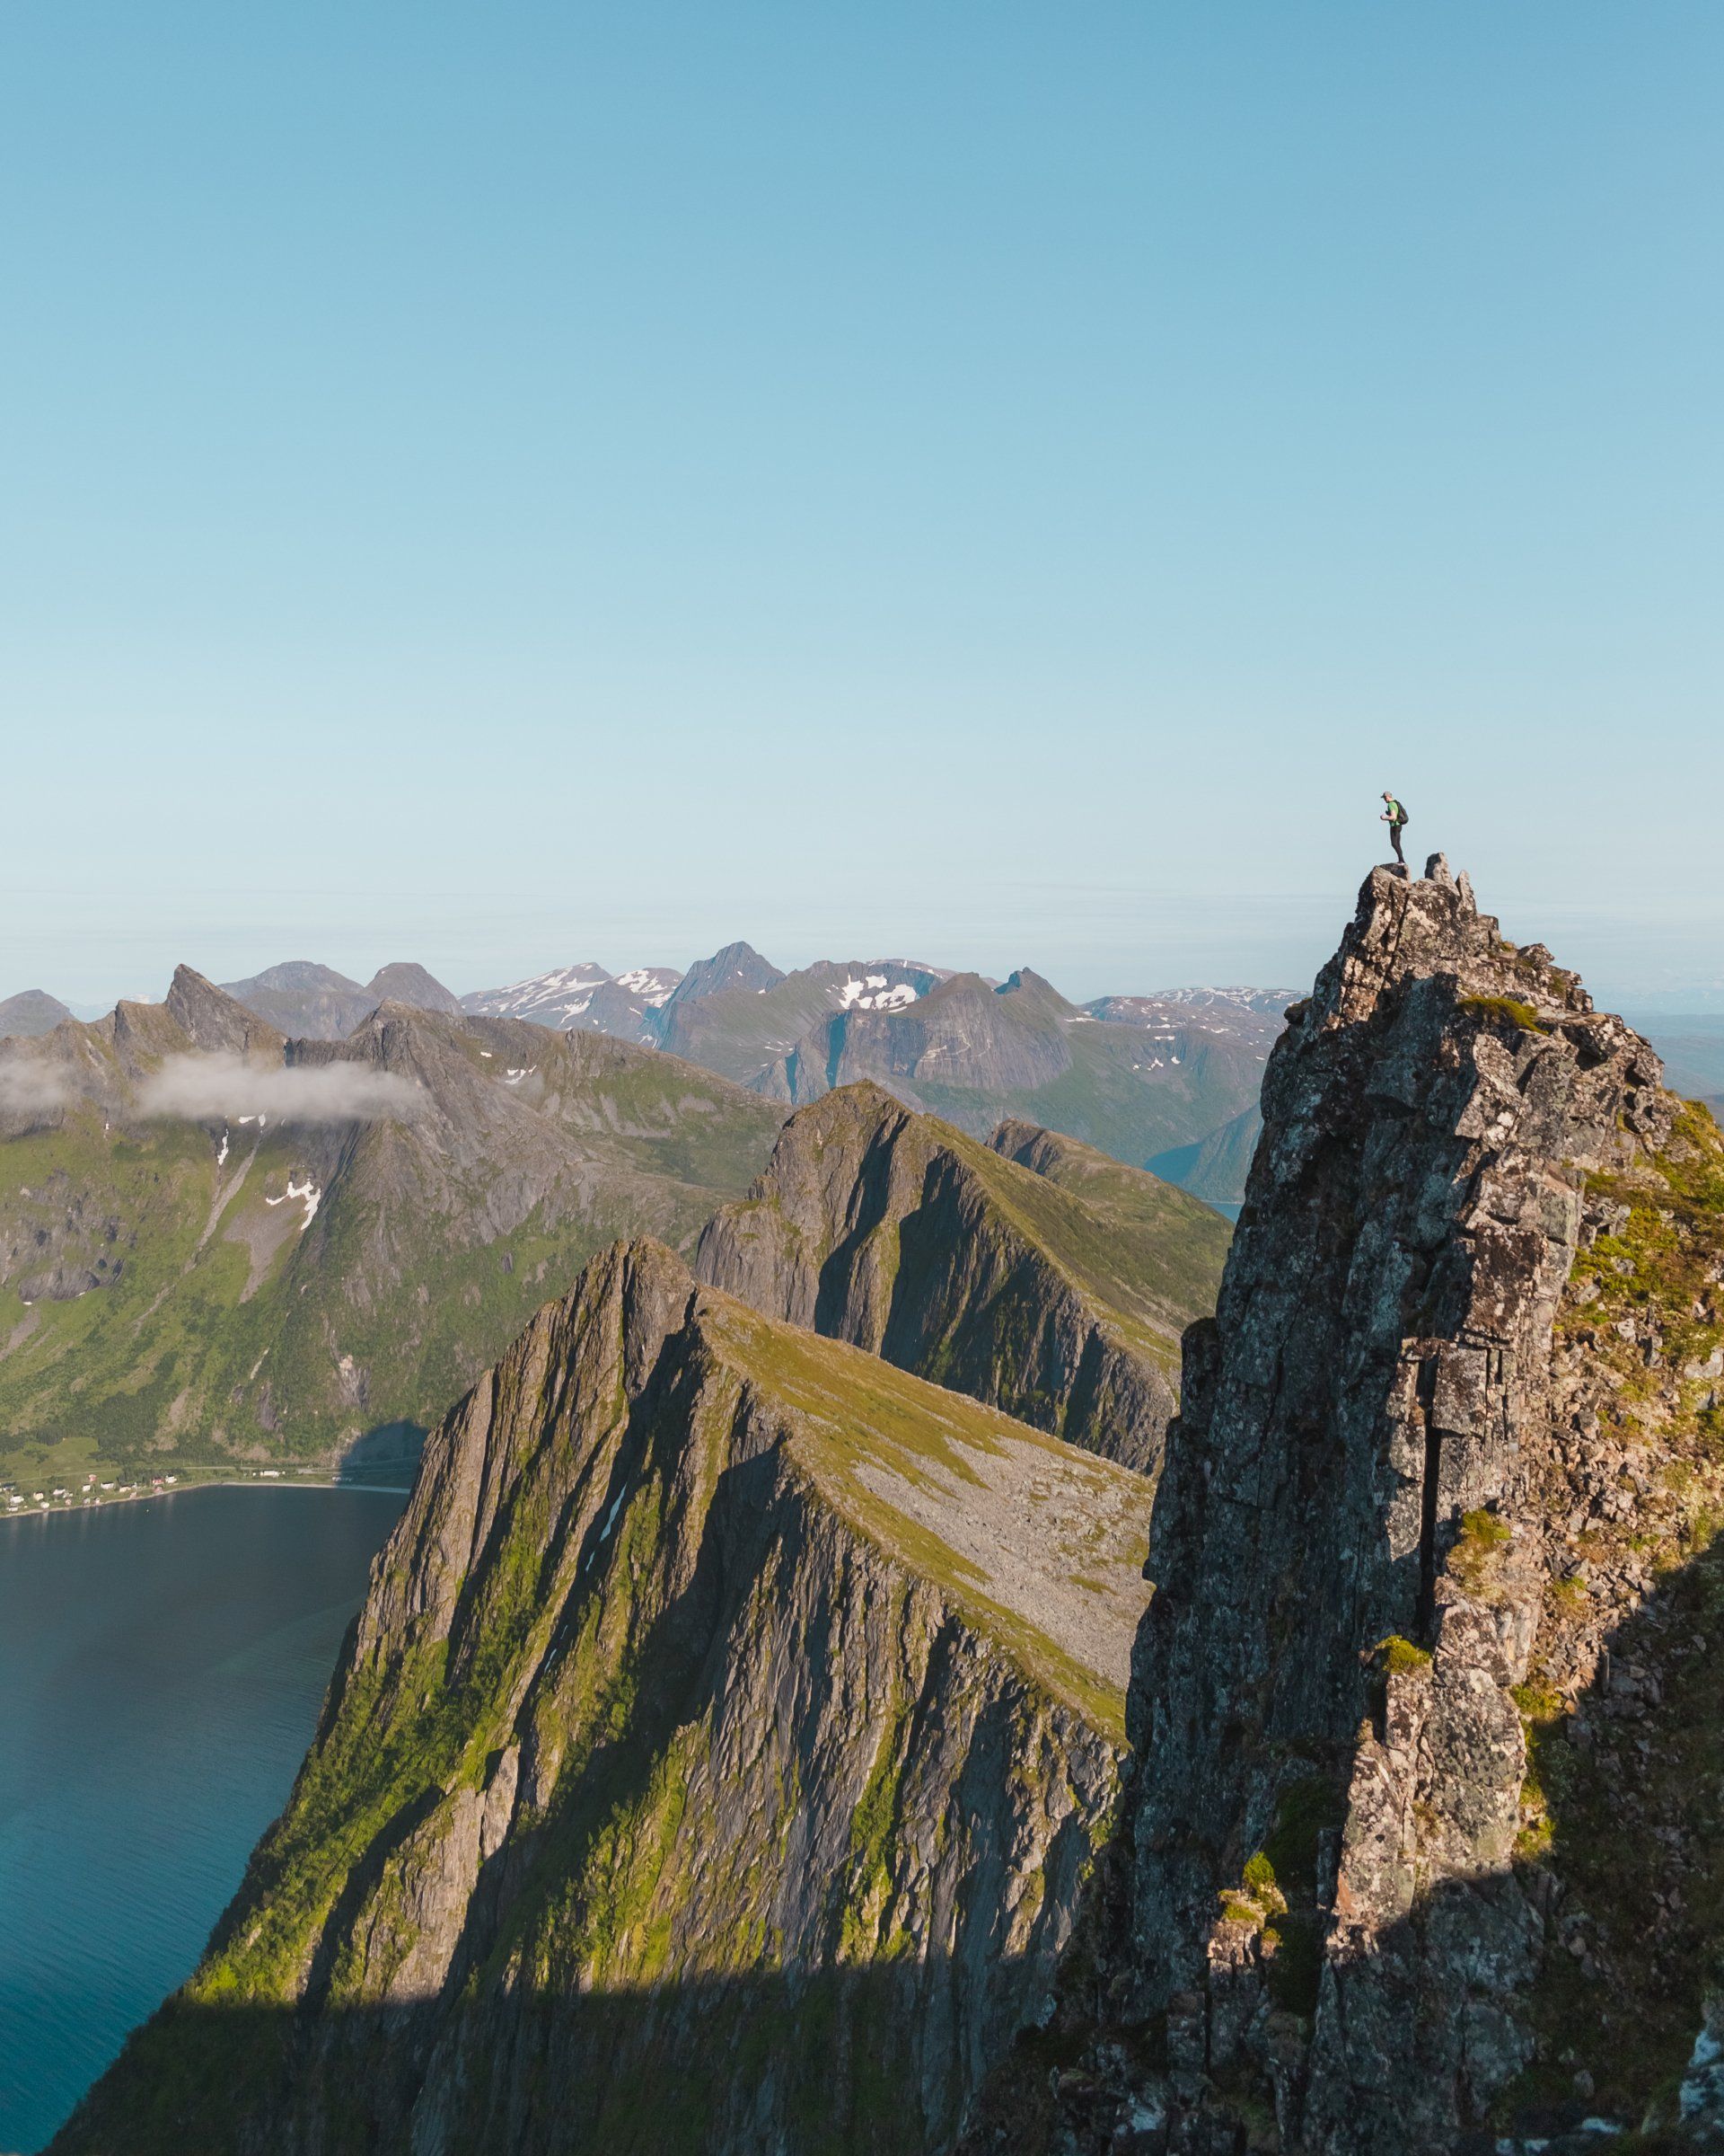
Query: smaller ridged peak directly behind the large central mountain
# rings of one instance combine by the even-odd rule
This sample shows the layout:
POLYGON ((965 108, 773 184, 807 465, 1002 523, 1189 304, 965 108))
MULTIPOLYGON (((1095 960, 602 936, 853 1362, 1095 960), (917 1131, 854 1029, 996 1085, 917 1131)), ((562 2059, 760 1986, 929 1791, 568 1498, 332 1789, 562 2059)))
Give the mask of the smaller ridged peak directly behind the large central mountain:
POLYGON ((1000 1138, 989 1151, 873 1084, 828 1093, 791 1117, 748 1199, 711 1220, 696 1270, 1153 1473, 1174 1341, 1213 1300, 1226 1229, 1088 1147, 1026 1125, 1000 1138), (1013 1147, 1041 1171, 1000 1158, 1013 1147))

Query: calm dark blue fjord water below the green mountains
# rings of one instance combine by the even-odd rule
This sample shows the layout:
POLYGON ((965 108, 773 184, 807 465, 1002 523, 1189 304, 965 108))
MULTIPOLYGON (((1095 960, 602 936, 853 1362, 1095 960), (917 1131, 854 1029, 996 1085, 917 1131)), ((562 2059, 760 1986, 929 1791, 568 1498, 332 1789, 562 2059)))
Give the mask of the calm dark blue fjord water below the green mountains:
POLYGON ((181 1984, 287 1802, 386 1490, 0 1522, 0 2150, 181 1984))

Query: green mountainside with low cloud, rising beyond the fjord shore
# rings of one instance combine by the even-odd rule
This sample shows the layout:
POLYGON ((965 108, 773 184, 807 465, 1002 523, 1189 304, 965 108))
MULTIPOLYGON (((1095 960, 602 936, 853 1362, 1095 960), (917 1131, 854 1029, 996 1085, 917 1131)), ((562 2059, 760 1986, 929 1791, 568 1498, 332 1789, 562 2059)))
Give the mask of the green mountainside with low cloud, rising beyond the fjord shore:
POLYGON ((325 1462, 422 1429, 595 1248, 692 1244, 778 1128, 653 1050, 506 1020, 384 1005, 289 1050, 194 975, 9 1044, 0 1104, 54 1084, 54 1106, 0 1106, 0 1473, 26 1479, 325 1462), (190 1050, 388 1076, 414 1112, 144 1117, 140 1087, 190 1050))

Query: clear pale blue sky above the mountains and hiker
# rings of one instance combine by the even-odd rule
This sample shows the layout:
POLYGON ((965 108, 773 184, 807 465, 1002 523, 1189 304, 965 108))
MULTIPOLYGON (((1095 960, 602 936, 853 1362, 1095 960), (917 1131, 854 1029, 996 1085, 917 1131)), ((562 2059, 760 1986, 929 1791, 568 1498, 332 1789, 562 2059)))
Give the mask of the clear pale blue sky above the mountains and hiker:
POLYGON ((19 0, 0 994, 1297 983, 1442 845, 1724 1005, 1724 13, 19 0))

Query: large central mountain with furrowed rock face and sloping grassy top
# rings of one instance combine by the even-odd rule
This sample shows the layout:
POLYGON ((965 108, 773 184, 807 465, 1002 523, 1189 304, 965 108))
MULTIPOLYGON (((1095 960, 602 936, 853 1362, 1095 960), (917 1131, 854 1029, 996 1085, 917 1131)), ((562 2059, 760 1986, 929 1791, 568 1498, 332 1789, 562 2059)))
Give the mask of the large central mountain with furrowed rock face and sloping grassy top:
POLYGON ((948 2145, 1116 1787, 1146 1511, 614 1248, 431 1440, 282 1822, 56 2156, 948 2145))

